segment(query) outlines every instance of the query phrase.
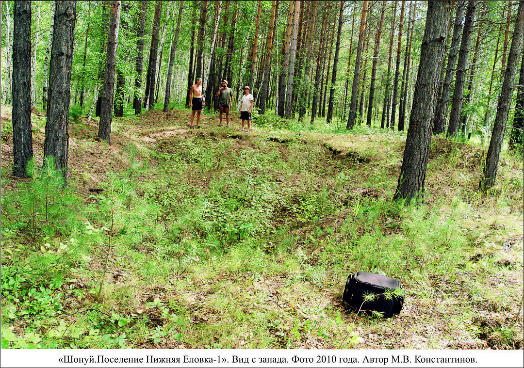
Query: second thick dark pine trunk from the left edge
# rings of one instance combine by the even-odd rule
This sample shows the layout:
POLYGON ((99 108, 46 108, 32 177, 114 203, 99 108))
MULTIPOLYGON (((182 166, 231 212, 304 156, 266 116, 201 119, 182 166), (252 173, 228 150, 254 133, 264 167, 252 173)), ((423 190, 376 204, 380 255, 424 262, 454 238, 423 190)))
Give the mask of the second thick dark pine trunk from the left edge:
POLYGON ((43 157, 44 165, 49 164, 50 158, 54 160, 56 170, 61 172, 64 185, 67 185, 69 102, 77 2, 57 1, 55 6, 43 157))

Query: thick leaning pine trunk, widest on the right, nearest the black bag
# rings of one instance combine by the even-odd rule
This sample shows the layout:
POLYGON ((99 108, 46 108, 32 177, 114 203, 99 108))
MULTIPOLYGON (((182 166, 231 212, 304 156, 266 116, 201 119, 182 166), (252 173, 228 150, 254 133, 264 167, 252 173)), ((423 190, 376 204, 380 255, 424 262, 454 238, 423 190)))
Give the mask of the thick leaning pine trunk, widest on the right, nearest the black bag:
POLYGON ((435 112, 435 96, 442 68, 450 5, 450 1, 428 1, 406 147, 393 199, 405 198, 409 202, 424 192, 431 145, 431 122, 435 112))

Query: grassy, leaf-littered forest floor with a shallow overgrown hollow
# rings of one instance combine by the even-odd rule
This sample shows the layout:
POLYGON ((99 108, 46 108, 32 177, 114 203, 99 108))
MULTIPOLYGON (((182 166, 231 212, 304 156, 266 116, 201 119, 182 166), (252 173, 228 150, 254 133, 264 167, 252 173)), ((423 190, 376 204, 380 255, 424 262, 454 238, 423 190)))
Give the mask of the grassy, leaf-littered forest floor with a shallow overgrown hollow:
MULTIPOLYGON (((407 206, 405 135, 189 115, 114 118, 111 145, 71 120, 46 206, 49 181, 10 175, 2 107, 3 348, 522 349, 521 158, 483 195, 487 148, 434 138, 407 206), (355 271, 398 278, 401 313, 345 308, 355 271)), ((45 113, 32 124, 41 166, 45 113)))

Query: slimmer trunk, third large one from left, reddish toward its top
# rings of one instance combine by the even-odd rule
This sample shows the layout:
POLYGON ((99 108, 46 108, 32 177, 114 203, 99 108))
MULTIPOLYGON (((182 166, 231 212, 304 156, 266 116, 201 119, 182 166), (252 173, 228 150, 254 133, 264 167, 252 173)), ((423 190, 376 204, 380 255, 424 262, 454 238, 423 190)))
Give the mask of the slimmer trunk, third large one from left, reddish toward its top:
POLYGON ((111 144, 111 121, 113 109, 113 86, 115 84, 116 49, 118 46, 118 28, 120 25, 121 1, 115 0, 111 9, 109 32, 107 34, 107 53, 105 57, 104 90, 100 111, 98 137, 111 144))

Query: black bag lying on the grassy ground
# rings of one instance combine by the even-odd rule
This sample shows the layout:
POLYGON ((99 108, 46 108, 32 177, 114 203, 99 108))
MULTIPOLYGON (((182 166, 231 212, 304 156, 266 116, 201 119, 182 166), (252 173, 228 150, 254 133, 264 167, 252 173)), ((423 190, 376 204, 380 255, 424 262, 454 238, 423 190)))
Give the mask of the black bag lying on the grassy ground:
POLYGON ((384 318, 389 318, 394 314, 400 313, 404 304, 404 296, 394 294, 387 299, 384 293, 401 288, 402 285, 396 278, 358 271, 347 277, 342 300, 357 311, 374 310, 383 313, 384 318), (374 294, 375 297, 364 302, 364 295, 366 294, 374 294))

